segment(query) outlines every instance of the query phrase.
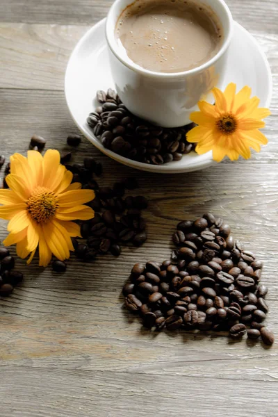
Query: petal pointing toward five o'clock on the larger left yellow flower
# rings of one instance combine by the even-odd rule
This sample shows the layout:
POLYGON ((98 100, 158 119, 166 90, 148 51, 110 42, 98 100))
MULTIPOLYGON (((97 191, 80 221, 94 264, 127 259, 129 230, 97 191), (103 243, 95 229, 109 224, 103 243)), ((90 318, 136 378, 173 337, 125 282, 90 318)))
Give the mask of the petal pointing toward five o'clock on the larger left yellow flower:
POLYGON ((70 258, 70 250, 67 247, 63 234, 54 226, 53 222, 42 224, 42 231, 51 252, 60 261, 70 258))

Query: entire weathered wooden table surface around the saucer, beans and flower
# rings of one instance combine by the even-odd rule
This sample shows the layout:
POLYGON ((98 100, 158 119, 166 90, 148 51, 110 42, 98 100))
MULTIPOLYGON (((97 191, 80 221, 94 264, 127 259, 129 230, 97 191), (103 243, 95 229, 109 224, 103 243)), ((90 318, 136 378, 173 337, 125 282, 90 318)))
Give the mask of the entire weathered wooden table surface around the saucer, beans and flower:
MULTIPOLYGON (((67 60, 111 3, 0 1, 1 154, 25 153, 33 133, 47 138, 47 147, 68 149, 67 135, 77 130, 63 92, 67 60)), ((178 220, 212 211, 264 261, 268 325, 278 340, 278 5, 228 3, 272 67, 269 145, 250 161, 166 177, 119 165, 83 140, 74 161, 91 154, 104 163, 101 183, 138 178, 140 193, 150 199, 149 239, 140 249, 125 248, 119 259, 71 261, 65 275, 38 268, 38 259, 29 267, 17 261, 24 284, 0 300, 1 417, 278 415, 277 343, 268 348, 231 343, 222 334, 153 334, 123 309, 120 295, 136 260, 169 259, 178 220)))

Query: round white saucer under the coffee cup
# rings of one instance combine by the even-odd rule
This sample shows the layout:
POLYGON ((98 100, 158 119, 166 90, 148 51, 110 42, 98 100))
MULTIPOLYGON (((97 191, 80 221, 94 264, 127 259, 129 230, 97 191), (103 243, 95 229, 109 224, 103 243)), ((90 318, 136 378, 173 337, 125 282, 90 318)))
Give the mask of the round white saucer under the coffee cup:
MULTIPOLYGON (((96 92, 114 87, 104 28, 105 19, 85 33, 72 52, 65 74, 67 106, 83 135, 115 161, 138 170, 174 174, 201 170, 211 165, 213 163, 211 152, 205 155, 192 152, 184 155, 181 161, 159 166, 138 163, 104 148, 93 135, 86 119, 97 106, 96 92)), ((236 22, 224 85, 231 82, 236 83, 238 89, 249 85, 252 88, 252 95, 261 99, 260 106, 270 106, 272 76, 268 60, 253 36, 236 22)))

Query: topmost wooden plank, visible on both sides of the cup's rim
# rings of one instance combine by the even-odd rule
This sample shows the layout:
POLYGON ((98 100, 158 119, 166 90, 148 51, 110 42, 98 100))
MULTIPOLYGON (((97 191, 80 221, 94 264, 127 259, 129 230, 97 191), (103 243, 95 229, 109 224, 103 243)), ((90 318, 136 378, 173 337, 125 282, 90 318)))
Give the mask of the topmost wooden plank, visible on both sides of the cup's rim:
MULTIPOLYGON (((2 22, 95 24, 113 0, 9 0, 0 3, 2 22)), ((276 0, 227 0, 234 19, 248 30, 277 33, 276 0)))

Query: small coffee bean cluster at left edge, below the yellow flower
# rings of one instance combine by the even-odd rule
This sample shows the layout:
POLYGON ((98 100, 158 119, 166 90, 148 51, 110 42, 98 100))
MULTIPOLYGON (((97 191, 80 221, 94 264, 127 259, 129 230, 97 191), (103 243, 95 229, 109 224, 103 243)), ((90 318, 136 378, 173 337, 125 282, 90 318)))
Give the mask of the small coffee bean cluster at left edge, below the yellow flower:
POLYGON ((23 280, 23 274, 14 270, 15 258, 6 247, 0 247, 0 297, 8 297, 13 288, 23 280))

